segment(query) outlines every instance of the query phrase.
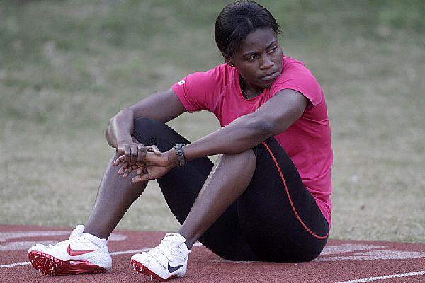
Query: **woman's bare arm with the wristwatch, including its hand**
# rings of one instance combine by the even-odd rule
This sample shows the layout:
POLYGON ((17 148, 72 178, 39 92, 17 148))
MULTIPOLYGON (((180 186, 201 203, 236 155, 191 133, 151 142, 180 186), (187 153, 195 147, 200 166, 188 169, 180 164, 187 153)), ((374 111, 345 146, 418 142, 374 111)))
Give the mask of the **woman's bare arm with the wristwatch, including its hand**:
MULTIPOLYGON (((301 117, 306 107, 307 98, 301 93, 289 89, 279 91, 256 112, 239 117, 229 125, 184 146, 184 155, 190 161, 215 154, 239 154, 288 129, 301 117)), ((113 164, 118 166, 124 161, 124 156, 120 156, 113 164)), ((160 178, 179 165, 174 149, 159 155, 147 152, 145 161, 147 167, 137 170, 138 175, 132 178, 132 183, 160 178)))

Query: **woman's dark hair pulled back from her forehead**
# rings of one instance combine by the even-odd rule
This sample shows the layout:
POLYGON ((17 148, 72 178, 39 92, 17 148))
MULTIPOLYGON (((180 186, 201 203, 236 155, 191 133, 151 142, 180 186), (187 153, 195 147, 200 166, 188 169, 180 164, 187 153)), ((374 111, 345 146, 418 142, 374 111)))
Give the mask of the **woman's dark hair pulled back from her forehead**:
POLYGON ((215 20, 215 43, 225 59, 239 50, 245 37, 257 28, 271 28, 281 34, 271 13, 260 4, 241 0, 225 6, 215 20))

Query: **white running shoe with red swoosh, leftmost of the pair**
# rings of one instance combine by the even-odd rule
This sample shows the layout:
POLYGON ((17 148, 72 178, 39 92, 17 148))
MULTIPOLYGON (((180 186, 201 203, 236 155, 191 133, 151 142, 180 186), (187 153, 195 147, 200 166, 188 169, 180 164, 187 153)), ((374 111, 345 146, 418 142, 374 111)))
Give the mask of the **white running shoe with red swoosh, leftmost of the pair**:
POLYGON ((112 258, 106 239, 83 233, 78 225, 69 240, 55 246, 37 244, 28 250, 28 259, 36 270, 45 275, 76 275, 103 273, 111 270, 112 258))

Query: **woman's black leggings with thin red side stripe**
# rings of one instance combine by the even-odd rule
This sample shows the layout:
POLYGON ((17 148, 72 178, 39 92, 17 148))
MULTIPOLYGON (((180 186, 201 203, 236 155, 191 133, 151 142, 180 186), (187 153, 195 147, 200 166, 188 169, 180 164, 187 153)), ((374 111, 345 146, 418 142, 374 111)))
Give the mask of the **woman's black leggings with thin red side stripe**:
MULTIPOLYGON (((157 145, 162 152, 175 144, 189 144, 171 127, 147 118, 135 120, 134 137, 147 146, 157 145)), ((205 231, 200 243, 227 260, 313 260, 327 243, 329 225, 326 219, 276 139, 271 137, 252 150, 256 169, 251 182, 205 231)), ((199 158, 186 166, 173 168, 157 180, 166 203, 181 224, 212 166, 209 158, 199 158)))

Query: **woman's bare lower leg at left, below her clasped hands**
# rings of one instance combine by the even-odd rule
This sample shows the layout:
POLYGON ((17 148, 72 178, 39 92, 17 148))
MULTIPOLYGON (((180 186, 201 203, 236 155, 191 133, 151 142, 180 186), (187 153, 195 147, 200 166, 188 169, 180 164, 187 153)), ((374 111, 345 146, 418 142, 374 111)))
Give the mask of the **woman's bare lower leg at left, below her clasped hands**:
POLYGON ((85 233, 91 233, 99 238, 108 238, 130 205, 142 195, 147 185, 147 181, 132 184, 131 178, 134 173, 126 179, 118 175, 120 166, 112 165, 116 158, 118 156, 114 154, 106 167, 94 208, 84 229, 85 233))

